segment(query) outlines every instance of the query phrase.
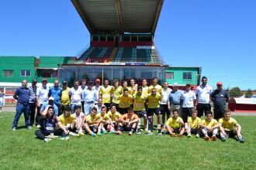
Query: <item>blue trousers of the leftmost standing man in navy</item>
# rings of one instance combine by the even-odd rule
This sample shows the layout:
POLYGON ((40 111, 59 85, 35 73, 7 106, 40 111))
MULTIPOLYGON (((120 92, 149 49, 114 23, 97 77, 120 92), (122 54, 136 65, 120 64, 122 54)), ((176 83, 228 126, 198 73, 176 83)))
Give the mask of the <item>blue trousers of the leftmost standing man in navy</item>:
POLYGON ((12 128, 17 128, 19 117, 24 113, 25 127, 29 127, 29 104, 17 104, 16 115, 12 122, 12 128))

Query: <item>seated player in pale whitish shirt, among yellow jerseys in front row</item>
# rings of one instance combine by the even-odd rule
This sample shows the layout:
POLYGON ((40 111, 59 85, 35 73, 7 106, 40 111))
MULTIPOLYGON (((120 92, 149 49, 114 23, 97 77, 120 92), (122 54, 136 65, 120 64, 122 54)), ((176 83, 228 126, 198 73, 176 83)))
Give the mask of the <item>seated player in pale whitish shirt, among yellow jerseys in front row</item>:
POLYGON ((88 134, 95 136, 95 134, 90 130, 88 124, 85 124, 86 116, 81 112, 81 105, 74 107, 75 120, 72 122, 71 127, 74 127, 78 136, 85 135, 82 131, 85 129, 88 134))

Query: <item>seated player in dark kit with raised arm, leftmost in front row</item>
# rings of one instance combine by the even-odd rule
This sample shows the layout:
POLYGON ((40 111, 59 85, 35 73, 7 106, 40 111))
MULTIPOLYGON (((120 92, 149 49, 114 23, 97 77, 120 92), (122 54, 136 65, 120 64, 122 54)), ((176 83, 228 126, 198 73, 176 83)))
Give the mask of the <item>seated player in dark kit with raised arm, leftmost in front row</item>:
POLYGON ((62 136, 65 141, 69 139, 67 137, 68 130, 61 124, 60 119, 54 115, 54 107, 48 105, 45 110, 43 110, 41 114, 42 124, 41 129, 35 132, 36 137, 40 138, 43 141, 50 141, 50 138, 47 138, 47 135, 54 136, 62 136), (59 128, 56 128, 56 124, 59 128))

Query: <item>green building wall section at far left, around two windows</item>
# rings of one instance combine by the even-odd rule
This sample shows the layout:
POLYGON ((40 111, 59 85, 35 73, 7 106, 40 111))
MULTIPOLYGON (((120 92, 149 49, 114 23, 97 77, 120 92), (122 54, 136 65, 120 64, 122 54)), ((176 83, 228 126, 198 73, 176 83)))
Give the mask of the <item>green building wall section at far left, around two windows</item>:
POLYGON ((34 56, 0 56, 0 81, 19 83, 31 82, 35 78, 34 56), (3 76, 3 70, 13 70, 13 76, 3 76), (20 70, 30 70, 30 76, 20 76, 20 70))

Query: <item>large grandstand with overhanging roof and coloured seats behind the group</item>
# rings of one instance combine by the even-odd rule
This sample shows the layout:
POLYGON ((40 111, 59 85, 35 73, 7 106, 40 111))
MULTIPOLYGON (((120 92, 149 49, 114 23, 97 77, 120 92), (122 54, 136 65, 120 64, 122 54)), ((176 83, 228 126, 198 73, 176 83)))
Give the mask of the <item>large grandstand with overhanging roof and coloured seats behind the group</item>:
POLYGON ((164 66, 154 46, 154 32, 164 0, 71 2, 90 32, 90 46, 74 63, 60 65, 60 79, 163 79, 164 66), (119 69, 116 76, 113 66, 119 69))

